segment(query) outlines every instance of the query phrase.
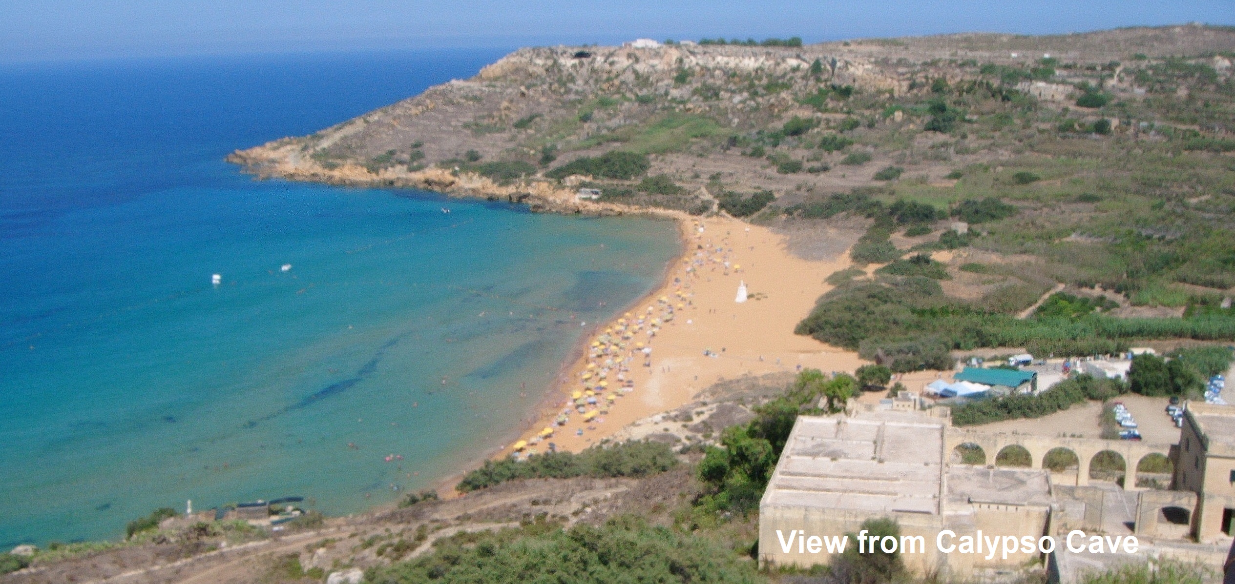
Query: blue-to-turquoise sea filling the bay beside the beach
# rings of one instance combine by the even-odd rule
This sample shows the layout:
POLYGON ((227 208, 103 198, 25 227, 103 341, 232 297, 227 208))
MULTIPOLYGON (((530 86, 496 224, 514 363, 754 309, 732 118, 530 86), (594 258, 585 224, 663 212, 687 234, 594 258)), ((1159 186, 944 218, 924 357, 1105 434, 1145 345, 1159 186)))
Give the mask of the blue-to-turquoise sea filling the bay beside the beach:
POLYGON ((509 441, 580 323, 655 286, 672 223, 224 162, 500 54, 0 69, 0 549, 190 499, 356 512, 509 441))

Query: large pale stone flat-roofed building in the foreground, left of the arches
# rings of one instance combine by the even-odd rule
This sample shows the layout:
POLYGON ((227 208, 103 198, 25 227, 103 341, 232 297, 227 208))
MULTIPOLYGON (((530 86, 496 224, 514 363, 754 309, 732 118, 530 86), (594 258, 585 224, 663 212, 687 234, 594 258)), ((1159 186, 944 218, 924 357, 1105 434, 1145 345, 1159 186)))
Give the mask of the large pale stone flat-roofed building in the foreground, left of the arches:
MULTIPOLYGON (((1036 553, 945 554, 936 547, 942 530, 957 537, 1045 533, 1050 480, 1044 470, 945 464, 948 420, 925 411, 857 411, 851 416, 799 416, 760 503, 762 563, 830 563, 825 551, 785 538, 857 533, 868 519, 889 517, 900 526, 905 564, 919 573, 967 574, 1036 559, 1036 553)), ((952 540, 955 543, 955 540, 952 540)), ((855 541, 848 544, 856 546, 855 541)))

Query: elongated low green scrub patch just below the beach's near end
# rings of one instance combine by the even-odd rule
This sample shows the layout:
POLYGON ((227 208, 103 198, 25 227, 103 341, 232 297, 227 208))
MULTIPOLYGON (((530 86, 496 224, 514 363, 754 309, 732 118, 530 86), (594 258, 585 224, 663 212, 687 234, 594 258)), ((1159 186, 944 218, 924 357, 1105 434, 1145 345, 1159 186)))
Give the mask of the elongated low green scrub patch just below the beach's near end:
POLYGON ((622 442, 609 447, 593 446, 578 454, 532 454, 526 462, 485 461, 483 467, 467 473, 456 489, 467 493, 517 479, 647 477, 663 473, 677 463, 673 451, 659 442, 622 442))

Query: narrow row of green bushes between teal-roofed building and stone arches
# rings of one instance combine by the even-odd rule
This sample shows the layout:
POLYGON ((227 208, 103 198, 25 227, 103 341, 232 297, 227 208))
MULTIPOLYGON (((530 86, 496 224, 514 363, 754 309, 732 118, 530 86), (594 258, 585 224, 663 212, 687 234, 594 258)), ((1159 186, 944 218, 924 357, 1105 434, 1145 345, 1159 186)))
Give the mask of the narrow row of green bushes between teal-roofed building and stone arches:
POLYGON ((1091 375, 1077 375, 1060 382, 1053 388, 1037 395, 1009 395, 976 400, 952 409, 952 423, 973 426, 1018 417, 1042 417, 1060 410, 1067 410, 1084 400, 1115 398, 1128 391, 1126 385, 1113 379, 1094 379, 1091 375))

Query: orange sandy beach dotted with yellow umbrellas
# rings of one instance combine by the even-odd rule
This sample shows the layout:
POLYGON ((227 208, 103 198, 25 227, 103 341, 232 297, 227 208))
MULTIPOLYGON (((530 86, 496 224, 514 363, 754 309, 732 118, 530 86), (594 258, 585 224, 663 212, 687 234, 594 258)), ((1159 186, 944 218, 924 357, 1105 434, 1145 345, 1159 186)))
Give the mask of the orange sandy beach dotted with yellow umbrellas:
POLYGON ((676 219, 684 253, 662 285, 584 337, 548 406, 519 438, 524 444, 505 444, 500 456, 515 447, 546 452, 551 442, 578 452, 724 379, 799 368, 852 372, 863 363, 853 352, 793 333, 831 288, 827 275, 850 265, 847 257, 800 259, 783 236, 730 217, 676 219), (737 302, 742 283, 748 299, 737 302))

